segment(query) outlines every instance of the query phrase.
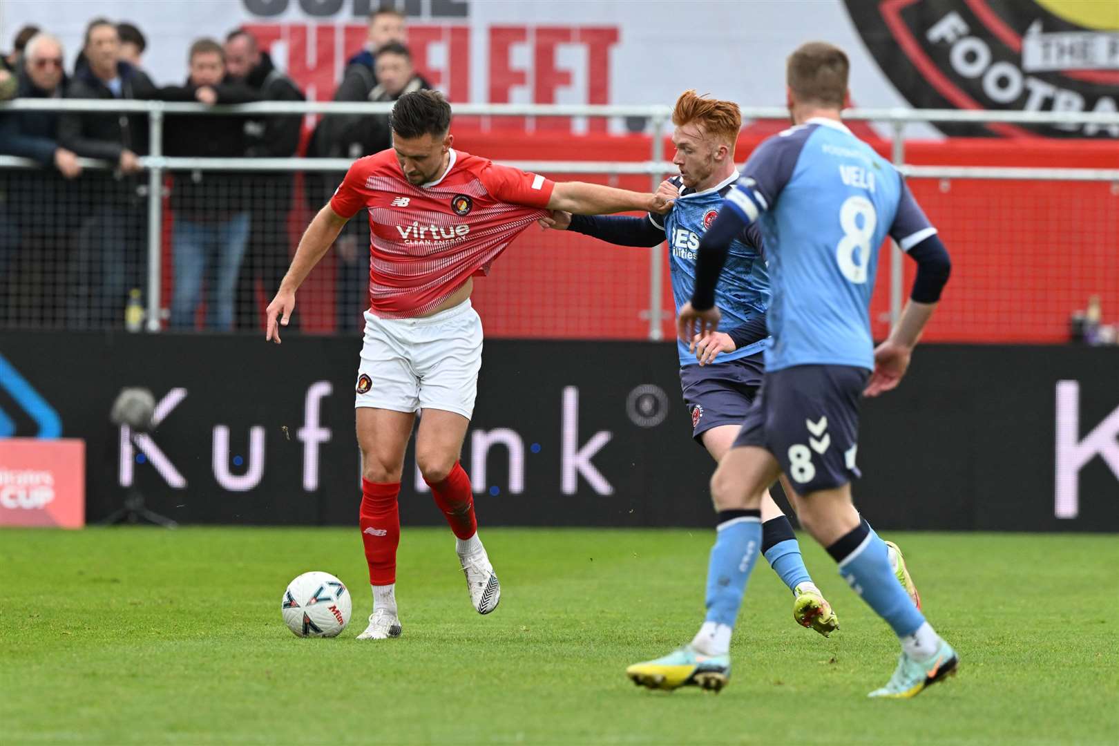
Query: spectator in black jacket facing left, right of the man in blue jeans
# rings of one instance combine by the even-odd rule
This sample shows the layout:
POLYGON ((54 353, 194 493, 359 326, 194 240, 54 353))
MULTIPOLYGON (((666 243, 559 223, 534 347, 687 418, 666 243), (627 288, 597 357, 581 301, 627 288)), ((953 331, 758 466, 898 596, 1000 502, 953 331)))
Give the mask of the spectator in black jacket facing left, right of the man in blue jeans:
MULTIPOLYGON (((290 77, 276 69, 269 53, 244 29, 234 29, 225 40, 225 68, 229 82, 252 88, 261 101, 304 101, 290 77)), ((272 114, 245 122, 247 158, 290 158, 299 149, 301 114, 272 114)), ((257 302, 256 281, 266 301, 280 286, 288 268, 288 214, 292 206, 292 174, 254 173, 245 179, 245 209, 252 216, 248 247, 237 280, 235 321, 237 329, 263 329, 264 304, 257 302)), ((288 328, 298 328, 299 317, 288 328)))

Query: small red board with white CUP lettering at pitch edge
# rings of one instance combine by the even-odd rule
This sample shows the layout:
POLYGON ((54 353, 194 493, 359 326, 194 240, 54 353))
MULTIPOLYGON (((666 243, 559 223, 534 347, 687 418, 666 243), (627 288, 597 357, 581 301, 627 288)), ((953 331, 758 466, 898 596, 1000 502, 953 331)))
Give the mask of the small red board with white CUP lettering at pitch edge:
POLYGON ((0 438, 0 526, 85 526, 85 441, 0 438))

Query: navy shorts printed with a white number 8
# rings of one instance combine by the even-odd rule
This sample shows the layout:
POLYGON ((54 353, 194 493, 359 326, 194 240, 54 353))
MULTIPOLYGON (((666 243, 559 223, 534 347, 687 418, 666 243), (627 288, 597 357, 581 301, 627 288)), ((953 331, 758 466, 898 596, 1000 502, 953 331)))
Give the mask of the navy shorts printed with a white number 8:
POLYGON ((756 445, 781 464, 800 494, 861 476, 858 407, 871 371, 850 366, 793 366, 765 374, 734 447, 756 445))

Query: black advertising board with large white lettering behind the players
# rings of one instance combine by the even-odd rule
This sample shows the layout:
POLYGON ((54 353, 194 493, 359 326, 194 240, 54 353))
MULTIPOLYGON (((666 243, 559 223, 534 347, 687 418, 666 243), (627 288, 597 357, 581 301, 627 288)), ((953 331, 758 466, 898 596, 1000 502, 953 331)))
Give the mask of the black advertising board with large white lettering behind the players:
MULTIPOLYGON (((352 523, 358 348, 4 332, 0 421, 38 433, 18 375, 86 442, 90 522, 134 488, 184 523, 352 523), (161 403, 148 440, 109 422, 122 385, 161 403)), ((491 340, 485 358, 463 453, 483 522, 709 526, 712 464, 671 344, 491 340)), ((904 385, 864 407, 858 507, 893 529, 1119 531, 1117 369, 1119 348, 922 347, 904 385)), ((402 520, 440 523, 411 453, 403 482, 402 520)))

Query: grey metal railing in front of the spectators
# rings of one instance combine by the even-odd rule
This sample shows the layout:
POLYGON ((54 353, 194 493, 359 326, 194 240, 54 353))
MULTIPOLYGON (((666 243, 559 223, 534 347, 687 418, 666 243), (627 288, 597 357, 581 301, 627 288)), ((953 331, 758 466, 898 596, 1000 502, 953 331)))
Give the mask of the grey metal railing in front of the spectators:
MULTIPOLYGON (((21 98, 0 103, 3 111, 58 111, 58 112, 112 112, 148 115, 150 154, 140 159, 148 171, 148 313, 149 331, 161 329, 160 276, 162 215, 160 200, 163 177, 167 171, 198 169, 214 171, 345 171, 348 159, 321 158, 171 158, 163 152, 163 120, 167 114, 187 115, 245 115, 245 114, 387 114, 392 103, 350 102, 261 102, 253 104, 206 106, 196 103, 169 103, 160 101, 95 101, 95 100, 43 100, 21 98)), ((610 173, 648 174, 650 188, 656 189, 662 177, 675 171, 671 162, 665 160, 665 134, 671 121, 671 107, 665 105, 580 105, 580 104, 453 104, 454 114, 460 116, 585 116, 585 117, 645 117, 650 122, 652 143, 650 160, 643 162, 604 161, 505 161, 509 166, 526 171, 543 173, 610 173)), ((782 120, 789 113, 778 106, 743 106, 743 121, 782 120)), ((905 163, 904 129, 918 122, 951 123, 999 123, 999 124, 1045 124, 1119 128, 1119 113, 1108 112, 1034 112, 1034 111, 959 111, 959 110, 913 110, 913 108, 852 108, 844 112, 848 121, 880 122, 891 125, 892 160, 899 170, 915 179, 1022 179, 1022 180, 1068 180, 1068 181, 1113 181, 1119 183, 1119 154, 1117 168, 1069 169, 1069 168, 990 168, 910 166, 905 163)), ((113 169, 115 164, 92 159, 81 159, 84 168, 113 169)), ((38 168, 35 161, 0 155, 0 168, 38 168)), ((890 275, 890 321, 893 324, 901 314, 904 299, 902 287, 901 249, 893 247, 890 275)), ((649 301, 648 336, 651 340, 662 339, 661 332, 661 253, 659 247, 649 253, 649 301)))

